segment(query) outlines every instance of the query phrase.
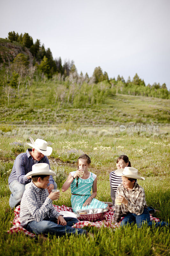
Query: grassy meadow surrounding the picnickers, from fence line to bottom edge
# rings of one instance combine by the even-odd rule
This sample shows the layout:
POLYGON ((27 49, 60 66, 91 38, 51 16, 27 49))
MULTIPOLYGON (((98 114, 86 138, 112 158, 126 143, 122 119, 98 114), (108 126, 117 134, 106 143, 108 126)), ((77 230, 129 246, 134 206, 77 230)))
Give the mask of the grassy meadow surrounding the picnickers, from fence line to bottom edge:
MULTIPOLYGON (((125 123, 127 126, 127 124, 125 123)), ((6 125, 0 127, 0 255, 169 255, 170 232, 167 228, 137 230, 126 227, 86 228, 95 234, 92 238, 53 237, 51 242, 36 243, 23 234, 7 234, 12 226, 14 213, 9 211, 8 177, 13 161, 20 152, 26 151, 28 136, 43 138, 53 147, 49 157, 56 168, 63 166, 66 176, 75 170, 76 159, 87 153, 91 159, 91 171, 98 175, 97 199, 111 201, 109 172, 116 169, 119 155, 129 156, 133 167, 137 168, 145 181, 139 184, 145 189, 147 204, 160 210, 156 215, 160 220, 170 220, 169 188, 169 126, 160 125, 158 131, 120 132, 120 126, 88 126, 60 124, 45 127, 34 125, 6 125)), ((64 175, 63 175, 64 176, 64 175)), ((63 180, 58 177, 61 189, 63 180)), ((61 192, 58 205, 71 206, 70 190, 61 192)), ((56 202, 54 202, 56 204, 56 202)))

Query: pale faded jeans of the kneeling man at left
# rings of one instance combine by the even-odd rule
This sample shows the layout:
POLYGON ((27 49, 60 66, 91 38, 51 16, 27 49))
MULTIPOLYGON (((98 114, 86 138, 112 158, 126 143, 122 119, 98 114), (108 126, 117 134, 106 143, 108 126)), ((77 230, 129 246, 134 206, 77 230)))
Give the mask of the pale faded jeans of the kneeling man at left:
MULTIPOLYGON (((9 184, 9 189, 11 191, 11 196, 9 199, 9 205, 11 208, 14 208, 18 203, 21 202, 21 198, 25 191, 26 184, 21 184, 18 180, 13 180, 9 184)), ((54 189, 57 189, 57 184, 54 181, 54 189)))

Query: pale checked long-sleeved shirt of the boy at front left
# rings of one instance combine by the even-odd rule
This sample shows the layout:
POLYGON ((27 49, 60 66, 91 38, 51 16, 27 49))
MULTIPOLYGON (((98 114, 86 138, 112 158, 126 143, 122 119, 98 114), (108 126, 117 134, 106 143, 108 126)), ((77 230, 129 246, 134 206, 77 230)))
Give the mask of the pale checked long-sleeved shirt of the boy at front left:
POLYGON ((21 226, 28 222, 36 220, 42 221, 46 218, 56 218, 61 215, 54 209, 52 200, 48 197, 48 190, 38 188, 33 182, 31 186, 24 191, 20 205, 21 226))

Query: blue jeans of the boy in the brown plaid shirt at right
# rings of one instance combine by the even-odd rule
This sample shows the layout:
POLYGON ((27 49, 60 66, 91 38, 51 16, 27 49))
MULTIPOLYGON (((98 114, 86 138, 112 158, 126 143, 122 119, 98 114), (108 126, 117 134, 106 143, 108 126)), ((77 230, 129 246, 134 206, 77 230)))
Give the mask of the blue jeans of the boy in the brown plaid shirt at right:
POLYGON ((159 222, 154 222, 150 221, 150 214, 148 212, 147 208, 144 208, 144 211, 140 215, 136 215, 135 213, 128 212, 123 220, 121 221, 121 227, 126 226, 127 224, 137 224, 138 228, 141 228, 144 223, 147 223, 148 226, 150 227, 163 227, 163 226, 168 226, 170 227, 170 224, 168 224, 165 221, 159 221, 159 222))

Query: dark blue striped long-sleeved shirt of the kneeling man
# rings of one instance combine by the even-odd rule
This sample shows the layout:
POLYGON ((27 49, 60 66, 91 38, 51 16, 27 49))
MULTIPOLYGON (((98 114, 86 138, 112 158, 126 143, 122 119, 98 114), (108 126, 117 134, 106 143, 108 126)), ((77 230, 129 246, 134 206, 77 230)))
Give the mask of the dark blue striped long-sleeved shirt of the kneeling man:
MULTIPOLYGON (((21 184, 27 184, 31 182, 31 179, 27 179, 26 174, 32 171, 32 166, 35 163, 29 151, 32 151, 32 149, 28 148, 26 150, 26 153, 21 153, 16 157, 14 161, 14 165, 12 167, 11 174, 8 178, 8 184, 10 184, 13 180, 17 180, 21 184)), ((43 158, 41 158, 40 161, 36 162, 36 164, 39 164, 39 163, 49 164, 47 156, 44 156, 43 158)), ((54 185, 54 180, 51 175, 49 177, 48 186, 50 184, 54 185)))

